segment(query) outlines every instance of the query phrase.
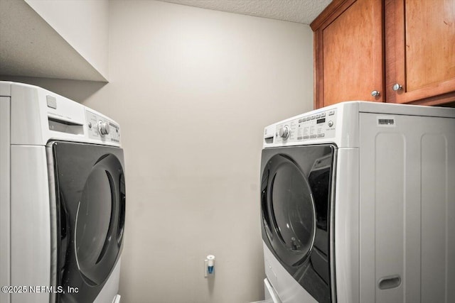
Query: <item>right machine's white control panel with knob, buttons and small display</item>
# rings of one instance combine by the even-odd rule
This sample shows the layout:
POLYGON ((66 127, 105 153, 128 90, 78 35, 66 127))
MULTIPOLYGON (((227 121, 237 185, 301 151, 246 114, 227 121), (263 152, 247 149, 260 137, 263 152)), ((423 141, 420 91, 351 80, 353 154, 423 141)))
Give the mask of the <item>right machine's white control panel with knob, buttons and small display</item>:
POLYGON ((294 143, 335 137, 336 109, 311 111, 277 124, 274 143, 294 143))

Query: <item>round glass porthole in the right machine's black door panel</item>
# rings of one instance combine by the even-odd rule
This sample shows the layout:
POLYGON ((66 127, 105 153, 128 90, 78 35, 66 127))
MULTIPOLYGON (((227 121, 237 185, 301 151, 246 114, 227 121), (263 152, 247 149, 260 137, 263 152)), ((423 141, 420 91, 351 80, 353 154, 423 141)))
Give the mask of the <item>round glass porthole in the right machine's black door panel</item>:
MULTIPOLYGON (((304 262, 316 231, 316 214, 306 176, 285 155, 275 155, 267 165, 268 193, 266 212, 272 228, 272 246, 288 265, 304 262)), ((263 203, 264 205, 264 203, 263 203)))

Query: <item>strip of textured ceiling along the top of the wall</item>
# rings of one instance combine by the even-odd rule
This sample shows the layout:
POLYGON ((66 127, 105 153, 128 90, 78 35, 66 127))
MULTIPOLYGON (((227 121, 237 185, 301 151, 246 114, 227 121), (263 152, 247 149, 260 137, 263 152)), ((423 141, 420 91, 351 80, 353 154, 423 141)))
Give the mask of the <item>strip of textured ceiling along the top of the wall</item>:
POLYGON ((159 0, 215 11, 309 24, 332 0, 159 0))

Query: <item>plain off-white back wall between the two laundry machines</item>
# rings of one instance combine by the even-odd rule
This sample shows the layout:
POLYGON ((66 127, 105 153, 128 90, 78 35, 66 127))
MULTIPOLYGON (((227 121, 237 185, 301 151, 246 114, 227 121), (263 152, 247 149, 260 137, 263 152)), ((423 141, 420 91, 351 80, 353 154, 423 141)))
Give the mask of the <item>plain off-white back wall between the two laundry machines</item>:
POLYGON ((262 299, 262 131, 313 108, 311 29, 158 1, 109 6, 109 84, 84 103, 122 126, 122 302, 262 299))

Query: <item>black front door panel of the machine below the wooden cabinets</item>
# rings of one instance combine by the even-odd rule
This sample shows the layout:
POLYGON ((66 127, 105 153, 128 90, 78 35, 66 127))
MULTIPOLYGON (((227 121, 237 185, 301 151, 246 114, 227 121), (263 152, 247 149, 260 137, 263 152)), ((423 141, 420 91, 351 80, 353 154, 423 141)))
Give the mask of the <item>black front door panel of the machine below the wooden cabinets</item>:
POLYGON ((262 150, 262 238, 294 279, 322 303, 335 302, 330 229, 335 154, 335 145, 262 150))

